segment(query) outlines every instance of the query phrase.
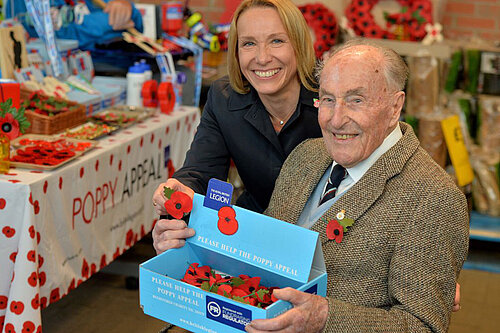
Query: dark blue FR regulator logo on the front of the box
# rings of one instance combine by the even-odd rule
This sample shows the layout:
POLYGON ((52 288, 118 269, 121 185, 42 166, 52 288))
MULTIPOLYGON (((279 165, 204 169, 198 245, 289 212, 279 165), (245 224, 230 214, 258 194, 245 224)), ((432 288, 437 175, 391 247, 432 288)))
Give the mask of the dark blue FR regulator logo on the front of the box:
POLYGON ((207 318, 245 331, 252 321, 252 311, 207 295, 207 318))

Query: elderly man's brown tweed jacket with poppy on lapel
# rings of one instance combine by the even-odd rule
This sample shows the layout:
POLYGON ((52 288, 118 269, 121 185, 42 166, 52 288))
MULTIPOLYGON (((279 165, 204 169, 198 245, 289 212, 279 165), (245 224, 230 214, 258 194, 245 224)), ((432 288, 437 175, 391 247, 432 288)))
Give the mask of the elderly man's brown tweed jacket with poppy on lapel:
MULTIPOLYGON (((467 256, 465 196, 411 127, 323 216, 355 220, 340 244, 317 221, 328 273, 324 332, 446 332, 467 256)), ((323 139, 286 160, 266 214, 296 223, 332 158, 323 139)), ((297 249, 300 249, 298 244, 297 249)), ((293 254, 292 254, 293 255, 293 254)))

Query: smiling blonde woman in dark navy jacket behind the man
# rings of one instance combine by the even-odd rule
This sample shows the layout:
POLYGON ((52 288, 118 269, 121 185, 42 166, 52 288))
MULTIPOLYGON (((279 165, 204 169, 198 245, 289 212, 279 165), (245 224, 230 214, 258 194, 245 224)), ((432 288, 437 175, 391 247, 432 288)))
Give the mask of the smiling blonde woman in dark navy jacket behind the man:
POLYGON ((314 54, 309 28, 290 0, 241 2, 229 31, 228 77, 210 88, 183 167, 155 192, 159 215, 163 186, 204 194, 211 178, 227 179, 231 161, 245 187, 236 204, 264 211, 288 154, 321 135, 314 54))

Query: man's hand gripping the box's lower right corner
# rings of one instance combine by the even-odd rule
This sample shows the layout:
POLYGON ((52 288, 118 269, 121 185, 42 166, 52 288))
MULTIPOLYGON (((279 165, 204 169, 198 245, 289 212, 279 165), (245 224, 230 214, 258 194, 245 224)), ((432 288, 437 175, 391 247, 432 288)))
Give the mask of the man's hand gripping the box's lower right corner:
POLYGON ((248 324, 247 332, 320 332, 328 317, 326 298, 298 291, 293 288, 276 289, 276 298, 292 303, 293 308, 272 319, 255 319, 248 324))

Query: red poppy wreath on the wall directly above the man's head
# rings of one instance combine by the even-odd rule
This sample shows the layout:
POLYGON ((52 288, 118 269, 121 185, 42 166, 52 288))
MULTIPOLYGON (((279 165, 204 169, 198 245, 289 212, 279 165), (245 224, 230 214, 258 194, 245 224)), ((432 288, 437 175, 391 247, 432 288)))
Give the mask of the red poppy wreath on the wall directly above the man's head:
POLYGON ((384 13, 388 29, 380 27, 371 11, 378 0, 353 0, 345 15, 356 35, 369 38, 421 41, 427 34, 425 25, 432 24, 430 0, 396 0, 401 5, 399 13, 384 13), (402 29, 402 31, 401 31, 402 29))

